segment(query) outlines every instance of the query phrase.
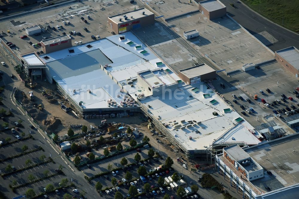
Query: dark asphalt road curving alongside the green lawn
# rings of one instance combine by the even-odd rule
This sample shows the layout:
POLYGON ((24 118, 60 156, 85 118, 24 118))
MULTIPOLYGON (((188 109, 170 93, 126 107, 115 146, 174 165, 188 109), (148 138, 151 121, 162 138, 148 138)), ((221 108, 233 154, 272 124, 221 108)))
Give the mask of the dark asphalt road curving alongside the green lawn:
POLYGON ((237 3, 236 0, 222 0, 221 1, 226 6, 226 11, 228 15, 231 16, 240 25, 246 28, 251 34, 260 33, 262 31, 267 31, 275 39, 278 40, 274 45, 269 45, 272 51, 280 50, 290 46, 295 46, 299 48, 299 36, 292 31, 284 29, 273 22, 264 19, 258 13, 249 9, 242 2, 237 3), (230 5, 233 3, 235 8, 230 5))

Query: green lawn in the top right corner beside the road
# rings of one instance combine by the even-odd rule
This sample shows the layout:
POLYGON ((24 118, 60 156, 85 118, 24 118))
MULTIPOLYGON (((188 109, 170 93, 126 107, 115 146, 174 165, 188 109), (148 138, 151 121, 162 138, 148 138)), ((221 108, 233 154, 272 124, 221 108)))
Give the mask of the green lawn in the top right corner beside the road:
POLYGON ((242 0, 274 23, 299 33, 299 0, 242 0))

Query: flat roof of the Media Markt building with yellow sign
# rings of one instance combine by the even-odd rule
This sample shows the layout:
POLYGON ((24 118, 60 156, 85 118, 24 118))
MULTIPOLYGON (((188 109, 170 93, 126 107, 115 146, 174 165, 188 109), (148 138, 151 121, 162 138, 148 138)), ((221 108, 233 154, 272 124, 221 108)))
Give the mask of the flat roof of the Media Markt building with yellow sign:
POLYGON ((126 13, 122 13, 122 14, 118 14, 118 15, 114 15, 109 17, 109 19, 111 19, 112 21, 114 21, 117 24, 121 24, 124 22, 130 22, 132 20, 136 20, 145 16, 149 16, 149 15, 153 15, 154 13, 152 13, 151 11, 145 9, 145 8, 141 8, 138 10, 133 10, 130 12, 126 12, 126 13), (144 14, 142 14, 142 12, 144 12, 144 14), (124 19, 124 15, 127 16, 127 19, 124 19), (119 21, 119 19, 121 19, 121 21, 119 21))

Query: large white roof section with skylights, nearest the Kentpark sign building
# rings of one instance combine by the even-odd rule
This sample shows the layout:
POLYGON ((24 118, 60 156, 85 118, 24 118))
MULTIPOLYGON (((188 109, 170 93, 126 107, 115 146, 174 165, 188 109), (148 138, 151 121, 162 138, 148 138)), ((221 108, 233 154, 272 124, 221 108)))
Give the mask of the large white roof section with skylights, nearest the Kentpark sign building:
POLYGON ((152 97, 142 99, 141 103, 147 107, 153 117, 160 120, 161 123, 169 124, 167 128, 170 133, 188 150, 206 149, 215 141, 214 139, 218 139, 228 132, 230 139, 218 140, 219 143, 232 142, 234 140, 231 140, 231 137, 237 134, 239 134, 236 136, 238 142, 260 143, 260 140, 252 136, 246 129, 254 129, 254 127, 249 123, 246 123, 246 127, 242 124, 236 125, 237 122, 234 120, 238 117, 242 118, 242 116, 233 110, 230 113, 224 113, 223 109, 230 107, 211 89, 207 89, 205 83, 184 85, 178 89, 177 94, 178 97, 175 97, 174 92, 172 94, 167 92, 163 95, 154 96, 155 99, 152 97), (195 87, 199 88, 196 93, 191 91, 195 87), (178 94, 179 92, 181 92, 181 95, 178 94), (203 94, 210 94, 211 97, 204 98, 203 94), (211 100, 217 100, 218 102, 212 105, 211 100), (213 112, 217 112, 218 115, 214 116, 213 112), (181 120, 185 120, 185 122, 181 123, 181 120), (175 122, 184 125, 188 121, 193 121, 194 125, 184 129, 174 128, 175 122), (196 124, 197 122, 201 123, 196 124), (196 133, 196 131, 199 131, 199 133, 196 133), (241 136, 241 134, 244 135, 241 136), (189 139, 190 136, 192 137, 191 140, 189 139))

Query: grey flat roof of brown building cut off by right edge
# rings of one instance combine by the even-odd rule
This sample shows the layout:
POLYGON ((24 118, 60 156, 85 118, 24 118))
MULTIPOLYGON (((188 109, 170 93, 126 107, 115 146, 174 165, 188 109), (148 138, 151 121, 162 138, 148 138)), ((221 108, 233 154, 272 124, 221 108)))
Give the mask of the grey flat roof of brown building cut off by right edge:
POLYGON ((285 48, 282 50, 277 50, 277 54, 279 54, 283 59, 286 59, 294 68, 299 70, 299 51, 294 46, 289 48, 285 48))

